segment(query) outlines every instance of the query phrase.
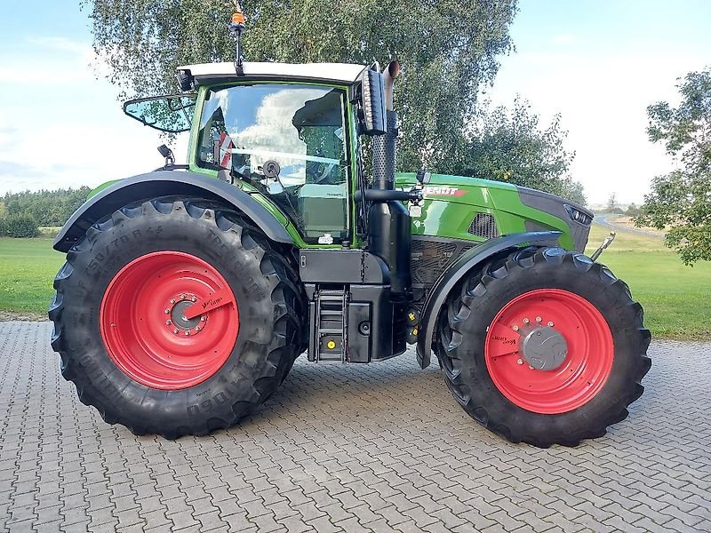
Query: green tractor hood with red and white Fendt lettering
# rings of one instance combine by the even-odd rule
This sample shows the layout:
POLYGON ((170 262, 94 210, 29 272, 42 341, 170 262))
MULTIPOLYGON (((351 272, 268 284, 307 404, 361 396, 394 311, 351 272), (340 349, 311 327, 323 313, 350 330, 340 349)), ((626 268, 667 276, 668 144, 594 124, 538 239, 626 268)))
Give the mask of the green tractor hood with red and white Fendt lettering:
MULTIPOLYGON (((398 173, 397 187, 417 183, 414 173, 398 173)), ((578 205, 529 187, 489 179, 432 174, 424 187, 419 217, 412 218, 413 235, 486 241, 524 231, 558 230, 560 244, 583 251, 593 213, 578 205)))

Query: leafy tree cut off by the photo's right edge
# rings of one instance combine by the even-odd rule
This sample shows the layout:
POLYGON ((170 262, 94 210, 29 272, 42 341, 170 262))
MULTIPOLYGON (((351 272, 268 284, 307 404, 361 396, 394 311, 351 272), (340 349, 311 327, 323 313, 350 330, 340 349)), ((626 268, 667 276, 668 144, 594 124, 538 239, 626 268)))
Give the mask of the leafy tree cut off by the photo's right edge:
POLYGON ((679 168, 652 179, 635 222, 668 228, 665 243, 692 265, 711 260, 711 69, 691 72, 676 86, 678 107, 647 107, 647 134, 664 143, 679 168))

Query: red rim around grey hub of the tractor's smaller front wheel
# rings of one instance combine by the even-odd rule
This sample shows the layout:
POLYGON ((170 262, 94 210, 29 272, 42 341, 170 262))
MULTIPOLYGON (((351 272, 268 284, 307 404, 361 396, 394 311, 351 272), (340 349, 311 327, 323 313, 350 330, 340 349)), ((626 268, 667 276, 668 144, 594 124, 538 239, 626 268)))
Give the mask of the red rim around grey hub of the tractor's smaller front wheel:
POLYGON ((494 317, 484 357, 491 380, 508 400, 525 410, 557 414, 579 408, 600 392, 610 377, 614 345, 610 326, 586 298, 539 289, 512 299, 494 317), (554 327, 563 336, 568 351, 559 367, 536 370, 523 359, 518 331, 531 327, 554 327))

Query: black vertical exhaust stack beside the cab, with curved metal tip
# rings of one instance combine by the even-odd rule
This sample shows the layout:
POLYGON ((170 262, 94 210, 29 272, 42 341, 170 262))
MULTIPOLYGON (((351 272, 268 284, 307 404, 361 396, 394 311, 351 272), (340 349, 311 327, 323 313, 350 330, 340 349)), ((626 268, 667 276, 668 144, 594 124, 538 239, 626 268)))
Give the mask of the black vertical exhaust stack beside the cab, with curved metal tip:
MULTIPOLYGON (((385 85, 387 133, 372 139, 373 180, 375 191, 395 189, 397 114, 393 110, 393 85, 400 64, 391 61, 382 72, 385 85)), ((410 213, 402 202, 371 203, 368 211, 368 244, 390 269, 390 294, 393 300, 411 300, 410 255, 412 229, 410 213)))

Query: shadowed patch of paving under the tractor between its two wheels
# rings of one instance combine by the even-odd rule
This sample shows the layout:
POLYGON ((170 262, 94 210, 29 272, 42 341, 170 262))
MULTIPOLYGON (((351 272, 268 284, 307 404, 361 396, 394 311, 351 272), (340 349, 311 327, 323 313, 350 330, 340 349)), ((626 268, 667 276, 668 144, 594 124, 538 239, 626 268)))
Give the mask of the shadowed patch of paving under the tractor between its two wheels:
MULTIPOLYGON (((306 355, 276 393, 232 432, 267 425, 309 432, 350 426, 378 434, 382 428, 422 422, 478 427, 451 397, 436 362, 421 370, 414 350, 370 364, 313 363, 306 355)), ((220 432, 219 432, 220 433, 220 432)), ((488 433, 488 432, 485 432, 488 433)))

